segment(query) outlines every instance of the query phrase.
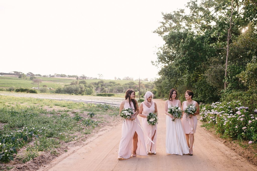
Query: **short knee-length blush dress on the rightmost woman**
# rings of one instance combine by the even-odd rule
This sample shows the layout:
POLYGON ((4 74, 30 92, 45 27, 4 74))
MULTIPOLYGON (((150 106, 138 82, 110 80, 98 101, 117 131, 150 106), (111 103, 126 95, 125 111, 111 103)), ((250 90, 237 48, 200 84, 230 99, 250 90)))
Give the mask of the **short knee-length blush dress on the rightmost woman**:
MULTIPOLYGON (((193 103, 195 105, 195 101, 193 103)), ((186 101, 183 104, 183 109, 187 107, 186 101)), ((186 113, 184 113, 182 117, 182 126, 184 129, 185 134, 195 134, 196 126, 197 126, 197 116, 192 116, 189 118, 186 113)))

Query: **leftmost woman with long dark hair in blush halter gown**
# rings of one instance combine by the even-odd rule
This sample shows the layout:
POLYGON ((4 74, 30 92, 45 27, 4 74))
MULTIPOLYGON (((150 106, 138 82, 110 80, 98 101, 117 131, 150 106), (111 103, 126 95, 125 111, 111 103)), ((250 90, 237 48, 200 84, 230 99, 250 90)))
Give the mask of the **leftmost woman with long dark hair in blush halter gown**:
POLYGON ((122 123, 121 141, 118 151, 118 159, 130 158, 136 155, 147 156, 144 134, 137 119, 139 108, 135 100, 135 91, 128 89, 125 94, 125 100, 121 102, 120 113, 123 108, 132 108, 133 115, 131 119, 124 119, 122 123))

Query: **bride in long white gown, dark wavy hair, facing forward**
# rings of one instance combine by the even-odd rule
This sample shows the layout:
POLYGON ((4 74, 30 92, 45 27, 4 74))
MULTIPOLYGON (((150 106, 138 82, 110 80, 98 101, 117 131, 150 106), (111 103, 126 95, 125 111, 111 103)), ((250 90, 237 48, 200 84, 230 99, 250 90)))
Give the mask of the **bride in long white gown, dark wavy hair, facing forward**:
POLYGON ((173 116, 168 113, 168 108, 177 106, 181 108, 181 102, 178 100, 177 90, 172 88, 169 94, 169 100, 165 102, 166 116, 166 153, 183 155, 189 153, 185 133, 181 124, 181 120, 176 118, 172 121, 173 116))

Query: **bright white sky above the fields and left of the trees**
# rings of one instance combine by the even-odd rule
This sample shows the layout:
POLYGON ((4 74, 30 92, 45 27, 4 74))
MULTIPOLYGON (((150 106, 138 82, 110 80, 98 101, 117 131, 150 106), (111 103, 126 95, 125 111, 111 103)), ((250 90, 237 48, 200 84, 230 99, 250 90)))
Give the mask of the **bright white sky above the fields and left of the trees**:
POLYGON ((0 0, 0 72, 159 77, 153 31, 187 2, 0 0))

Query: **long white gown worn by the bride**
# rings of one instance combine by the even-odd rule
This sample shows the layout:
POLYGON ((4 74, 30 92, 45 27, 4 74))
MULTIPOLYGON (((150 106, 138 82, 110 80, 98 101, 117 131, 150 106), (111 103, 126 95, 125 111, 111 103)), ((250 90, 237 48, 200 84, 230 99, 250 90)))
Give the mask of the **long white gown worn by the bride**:
MULTIPOLYGON (((178 102, 176 104, 178 107, 178 102)), ((168 101, 168 108, 170 108, 168 101)), ((166 116, 166 153, 183 155, 189 153, 185 133, 181 124, 181 120, 176 118, 172 121, 170 116, 166 116)))

